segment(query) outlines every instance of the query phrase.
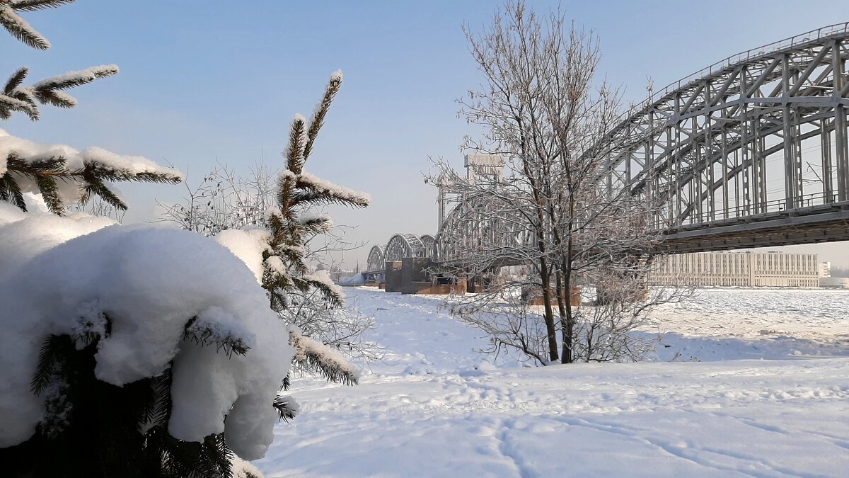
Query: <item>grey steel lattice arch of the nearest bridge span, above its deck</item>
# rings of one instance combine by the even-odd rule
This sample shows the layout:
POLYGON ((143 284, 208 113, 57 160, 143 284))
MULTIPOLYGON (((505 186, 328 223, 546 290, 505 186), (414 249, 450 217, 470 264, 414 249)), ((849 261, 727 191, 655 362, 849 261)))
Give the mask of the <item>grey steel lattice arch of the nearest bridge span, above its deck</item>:
POLYGON ((653 95, 608 137, 618 149, 607 151, 607 193, 665 203, 660 229, 849 201, 846 26, 735 55, 653 95), (812 190, 801 142, 818 136, 812 190), (776 198, 766 158, 779 152, 776 198))

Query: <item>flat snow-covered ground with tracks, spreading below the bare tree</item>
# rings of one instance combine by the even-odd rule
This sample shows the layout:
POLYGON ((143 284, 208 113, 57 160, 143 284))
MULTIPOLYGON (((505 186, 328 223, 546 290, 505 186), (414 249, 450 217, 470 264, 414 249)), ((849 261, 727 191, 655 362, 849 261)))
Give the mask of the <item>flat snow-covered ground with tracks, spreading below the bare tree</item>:
POLYGON ((520 367, 439 298, 348 290, 384 362, 296 380, 267 476, 849 475, 849 292, 702 290, 655 361, 520 367))

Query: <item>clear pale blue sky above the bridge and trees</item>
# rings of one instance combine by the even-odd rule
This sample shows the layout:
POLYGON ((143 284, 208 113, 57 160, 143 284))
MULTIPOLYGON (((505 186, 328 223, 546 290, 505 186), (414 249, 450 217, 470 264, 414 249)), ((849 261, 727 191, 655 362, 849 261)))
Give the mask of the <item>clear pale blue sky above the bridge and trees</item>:
MULTIPOLYGON (((366 210, 332 209, 356 225, 347 265, 393 232, 436 232, 436 191, 424 184, 428 156, 462 167, 458 146, 474 133, 455 100, 480 83, 461 26, 488 23, 497 1, 78 0, 25 14, 53 48, 0 37, 0 74, 31 77, 115 63, 117 77, 77 88, 73 110, 19 115, 10 134, 77 148, 171 162, 196 184, 216 162, 246 173, 263 158, 281 164, 289 123, 308 115, 331 72, 345 74, 307 169, 369 192, 366 210)), ((558 2, 529 1, 533 9, 558 2)), ((784 37, 849 21, 849 3, 799 1, 563 1, 577 26, 596 31, 602 76, 642 100, 706 65, 784 37)), ((154 198, 176 202, 183 186, 121 185, 128 221, 155 218, 154 198)), ((798 247, 849 265, 849 244, 798 247)))

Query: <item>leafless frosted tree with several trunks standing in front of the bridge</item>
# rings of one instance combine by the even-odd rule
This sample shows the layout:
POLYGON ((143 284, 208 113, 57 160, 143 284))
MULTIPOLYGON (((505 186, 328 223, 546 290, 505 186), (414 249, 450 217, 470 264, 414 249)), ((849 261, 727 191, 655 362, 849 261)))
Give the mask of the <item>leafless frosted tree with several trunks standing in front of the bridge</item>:
POLYGON ((489 292, 454 310, 498 346, 543 363, 637 359, 644 348, 628 333, 653 304, 679 294, 639 292, 648 290, 645 254, 659 241, 651 220, 658 205, 604 189, 604 161, 622 146, 607 138, 620 121, 620 94, 595 81, 597 38, 569 26, 559 11, 543 18, 521 1, 497 11, 480 35, 465 32, 485 81, 460 100, 459 115, 486 128, 465 147, 506 162, 503 177, 474 181, 436 162, 432 179, 450 185, 464 208, 453 214, 456 230, 441 233, 442 242, 466 249, 448 267, 490 277, 489 292), (503 265, 526 265, 530 273, 493 280, 503 265), (597 289, 592 310, 572 304, 577 282, 597 289), (500 318, 517 291, 520 299, 542 296, 544 344, 524 304, 512 307, 509 321, 500 318))

